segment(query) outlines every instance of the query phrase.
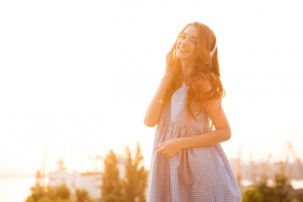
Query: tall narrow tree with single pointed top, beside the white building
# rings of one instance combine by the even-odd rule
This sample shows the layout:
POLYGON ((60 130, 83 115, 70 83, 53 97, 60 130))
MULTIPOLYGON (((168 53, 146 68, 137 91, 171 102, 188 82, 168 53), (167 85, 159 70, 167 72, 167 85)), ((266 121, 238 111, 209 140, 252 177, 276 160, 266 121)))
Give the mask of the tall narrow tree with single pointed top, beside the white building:
POLYGON ((112 150, 105 159, 105 171, 101 186, 102 202, 119 202, 122 199, 122 186, 117 168, 117 158, 112 150))

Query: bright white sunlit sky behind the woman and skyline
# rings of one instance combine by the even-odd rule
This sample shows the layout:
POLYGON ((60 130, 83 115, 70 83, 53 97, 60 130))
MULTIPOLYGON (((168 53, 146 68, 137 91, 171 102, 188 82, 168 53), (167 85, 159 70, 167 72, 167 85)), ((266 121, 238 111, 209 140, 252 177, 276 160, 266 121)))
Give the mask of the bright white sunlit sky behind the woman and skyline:
POLYGON ((302 10, 300 0, 1 0, 0 173, 35 173, 46 148, 47 171, 62 155, 83 168, 137 141, 149 169, 145 109, 193 21, 217 37, 227 157, 242 145, 244 159, 283 158, 289 141, 303 159, 302 10))

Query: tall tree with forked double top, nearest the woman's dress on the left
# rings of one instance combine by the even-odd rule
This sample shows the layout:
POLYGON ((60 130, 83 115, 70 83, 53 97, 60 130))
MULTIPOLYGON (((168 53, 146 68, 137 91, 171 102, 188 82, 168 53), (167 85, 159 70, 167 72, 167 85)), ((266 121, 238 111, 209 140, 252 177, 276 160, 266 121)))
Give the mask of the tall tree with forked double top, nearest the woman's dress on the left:
POLYGON ((145 202, 145 187, 147 185, 147 172, 143 165, 139 142, 137 143, 136 155, 132 159, 129 147, 126 148, 127 161, 125 164, 124 188, 127 202, 145 202))

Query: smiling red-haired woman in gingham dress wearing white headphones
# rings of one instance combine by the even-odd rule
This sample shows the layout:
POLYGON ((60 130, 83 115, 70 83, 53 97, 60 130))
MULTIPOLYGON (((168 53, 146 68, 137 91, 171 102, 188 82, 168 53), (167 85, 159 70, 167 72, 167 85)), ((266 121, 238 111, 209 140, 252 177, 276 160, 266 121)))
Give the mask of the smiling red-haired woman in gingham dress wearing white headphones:
POLYGON ((157 125, 148 202, 242 201, 220 145, 231 136, 224 95, 214 33, 198 22, 186 25, 144 118, 157 125))

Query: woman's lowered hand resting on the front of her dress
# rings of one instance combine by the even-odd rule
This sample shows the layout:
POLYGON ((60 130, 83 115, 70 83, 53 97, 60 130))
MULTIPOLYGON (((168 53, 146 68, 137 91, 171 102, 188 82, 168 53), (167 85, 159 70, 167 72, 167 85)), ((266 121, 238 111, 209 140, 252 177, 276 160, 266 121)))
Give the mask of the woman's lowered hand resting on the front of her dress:
POLYGON ((166 157, 172 157, 177 154, 181 150, 180 140, 180 138, 176 138, 162 142, 157 147, 157 154, 163 153, 166 157))

